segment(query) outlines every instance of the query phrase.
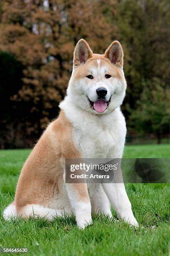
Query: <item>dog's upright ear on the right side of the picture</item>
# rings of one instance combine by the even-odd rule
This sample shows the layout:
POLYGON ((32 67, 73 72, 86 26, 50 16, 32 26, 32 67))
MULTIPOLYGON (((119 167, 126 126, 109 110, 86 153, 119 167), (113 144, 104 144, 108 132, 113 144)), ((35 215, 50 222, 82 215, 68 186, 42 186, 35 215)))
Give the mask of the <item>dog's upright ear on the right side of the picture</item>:
POLYGON ((123 67, 123 50, 122 46, 118 41, 112 42, 110 46, 107 48, 104 54, 105 58, 110 59, 112 64, 117 67, 123 67))

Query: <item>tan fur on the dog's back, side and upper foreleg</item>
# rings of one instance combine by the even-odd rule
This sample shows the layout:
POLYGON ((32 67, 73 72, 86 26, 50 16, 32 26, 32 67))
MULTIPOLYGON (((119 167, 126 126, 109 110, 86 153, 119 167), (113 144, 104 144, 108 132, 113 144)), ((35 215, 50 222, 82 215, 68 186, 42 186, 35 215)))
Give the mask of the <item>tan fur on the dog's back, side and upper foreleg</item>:
MULTIPOLYGON (((19 215, 24 212, 25 205, 48 207, 52 198, 57 197, 64 183, 60 159, 80 158, 72 137, 72 124, 61 111, 57 120, 42 134, 23 166, 15 194, 19 215)), ((85 184, 72 186, 80 191, 80 198, 88 195, 85 184)))

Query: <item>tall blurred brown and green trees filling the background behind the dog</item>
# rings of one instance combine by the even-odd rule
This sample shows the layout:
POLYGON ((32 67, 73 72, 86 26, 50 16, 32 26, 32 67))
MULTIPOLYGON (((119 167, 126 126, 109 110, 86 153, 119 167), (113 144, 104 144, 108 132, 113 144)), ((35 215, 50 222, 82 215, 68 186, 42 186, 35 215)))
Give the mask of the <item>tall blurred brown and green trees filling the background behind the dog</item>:
POLYGON ((122 110, 128 121, 139 100, 144 100, 140 95, 145 95, 148 84, 150 87, 156 79, 167 90, 168 0, 2 0, 0 51, 9 53, 24 67, 22 86, 10 96, 11 104, 23 113, 19 120, 24 147, 31 146, 57 116, 72 71, 74 47, 80 38, 100 54, 111 41, 122 44, 128 83, 122 110))

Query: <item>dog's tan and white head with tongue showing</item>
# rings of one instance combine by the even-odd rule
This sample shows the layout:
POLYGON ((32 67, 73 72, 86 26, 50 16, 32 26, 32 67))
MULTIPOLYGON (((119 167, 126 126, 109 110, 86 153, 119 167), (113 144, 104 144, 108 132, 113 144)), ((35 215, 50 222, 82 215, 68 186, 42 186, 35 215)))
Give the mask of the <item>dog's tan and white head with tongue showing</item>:
POLYGON ((68 97, 92 114, 112 112, 125 97, 122 66, 123 51, 118 41, 112 42, 105 54, 93 54, 87 42, 80 39, 75 47, 68 97))

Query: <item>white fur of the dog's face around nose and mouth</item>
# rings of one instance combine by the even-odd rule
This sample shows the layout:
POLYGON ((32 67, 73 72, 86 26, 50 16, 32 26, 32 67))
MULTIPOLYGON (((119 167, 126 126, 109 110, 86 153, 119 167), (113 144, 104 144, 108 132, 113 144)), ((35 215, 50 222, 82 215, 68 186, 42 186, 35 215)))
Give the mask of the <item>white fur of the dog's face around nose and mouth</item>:
POLYGON ((105 74, 107 74, 108 70, 109 67, 107 67, 107 65, 101 66, 100 62, 97 60, 97 67, 89 68, 89 74, 92 74, 93 79, 88 79, 87 77, 75 79, 77 70, 73 69, 67 88, 67 95, 75 106, 94 115, 105 115, 120 107, 125 97, 127 86, 124 72, 120 69, 122 73, 122 80, 120 81, 117 77, 106 79, 105 74), (97 113, 89 104, 89 100, 92 102, 98 100, 96 90, 99 87, 107 89, 105 100, 110 100, 108 108, 103 113, 97 113))

